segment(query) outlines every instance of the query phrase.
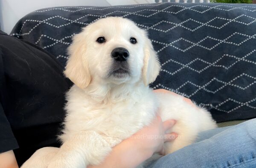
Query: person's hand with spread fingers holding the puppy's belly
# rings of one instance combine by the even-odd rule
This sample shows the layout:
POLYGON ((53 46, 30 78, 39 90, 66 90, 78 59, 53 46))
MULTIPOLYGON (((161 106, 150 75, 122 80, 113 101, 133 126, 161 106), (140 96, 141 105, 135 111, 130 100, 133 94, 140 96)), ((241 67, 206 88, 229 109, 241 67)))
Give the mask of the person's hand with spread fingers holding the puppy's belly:
POLYGON ((162 121, 161 117, 157 117, 150 125, 143 127, 129 139, 135 139, 139 149, 149 154, 159 153, 164 155, 164 142, 169 142, 177 137, 177 133, 165 133, 175 125, 175 120, 162 121))

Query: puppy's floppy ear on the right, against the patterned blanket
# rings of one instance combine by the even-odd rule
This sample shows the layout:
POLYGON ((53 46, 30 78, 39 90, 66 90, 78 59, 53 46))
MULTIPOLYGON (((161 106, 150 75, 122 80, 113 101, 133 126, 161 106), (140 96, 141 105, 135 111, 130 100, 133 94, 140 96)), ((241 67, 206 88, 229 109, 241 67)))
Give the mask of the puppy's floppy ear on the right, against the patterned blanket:
POLYGON ((154 51, 151 41, 146 38, 144 46, 142 78, 145 86, 155 81, 159 74, 161 65, 158 61, 157 53, 154 51))

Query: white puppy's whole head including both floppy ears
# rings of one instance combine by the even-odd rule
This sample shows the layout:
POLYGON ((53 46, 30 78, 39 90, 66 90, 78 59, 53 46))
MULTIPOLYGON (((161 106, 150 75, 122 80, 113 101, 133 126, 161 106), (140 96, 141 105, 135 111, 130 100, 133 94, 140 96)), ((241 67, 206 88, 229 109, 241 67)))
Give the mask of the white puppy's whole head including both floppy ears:
POLYGON ((134 22, 107 17, 85 27, 68 48, 65 75, 84 89, 102 84, 153 82, 160 64, 147 33, 134 22))

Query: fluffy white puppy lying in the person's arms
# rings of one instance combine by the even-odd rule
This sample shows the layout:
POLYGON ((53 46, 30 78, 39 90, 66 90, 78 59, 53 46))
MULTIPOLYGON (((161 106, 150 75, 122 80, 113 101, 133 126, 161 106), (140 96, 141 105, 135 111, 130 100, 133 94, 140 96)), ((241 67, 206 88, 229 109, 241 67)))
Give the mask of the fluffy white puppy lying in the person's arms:
MULTIPOLYGON (((85 27, 69 47, 67 93, 61 148, 42 148, 22 168, 85 168, 101 163, 111 148, 149 125, 160 109, 163 121, 177 120, 166 142, 171 153, 216 127, 210 113, 182 97, 153 93, 148 84, 160 71, 147 33, 134 22, 108 17, 85 27)), ((175 82, 175 81, 174 81, 175 82)))

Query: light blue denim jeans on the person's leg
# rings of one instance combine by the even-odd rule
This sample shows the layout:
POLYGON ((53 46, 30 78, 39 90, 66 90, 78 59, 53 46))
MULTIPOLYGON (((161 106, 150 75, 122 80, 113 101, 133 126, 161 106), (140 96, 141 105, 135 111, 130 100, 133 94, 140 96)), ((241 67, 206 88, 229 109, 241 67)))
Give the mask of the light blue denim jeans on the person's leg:
POLYGON ((256 119, 200 133, 197 142, 149 168, 256 168, 256 119))

